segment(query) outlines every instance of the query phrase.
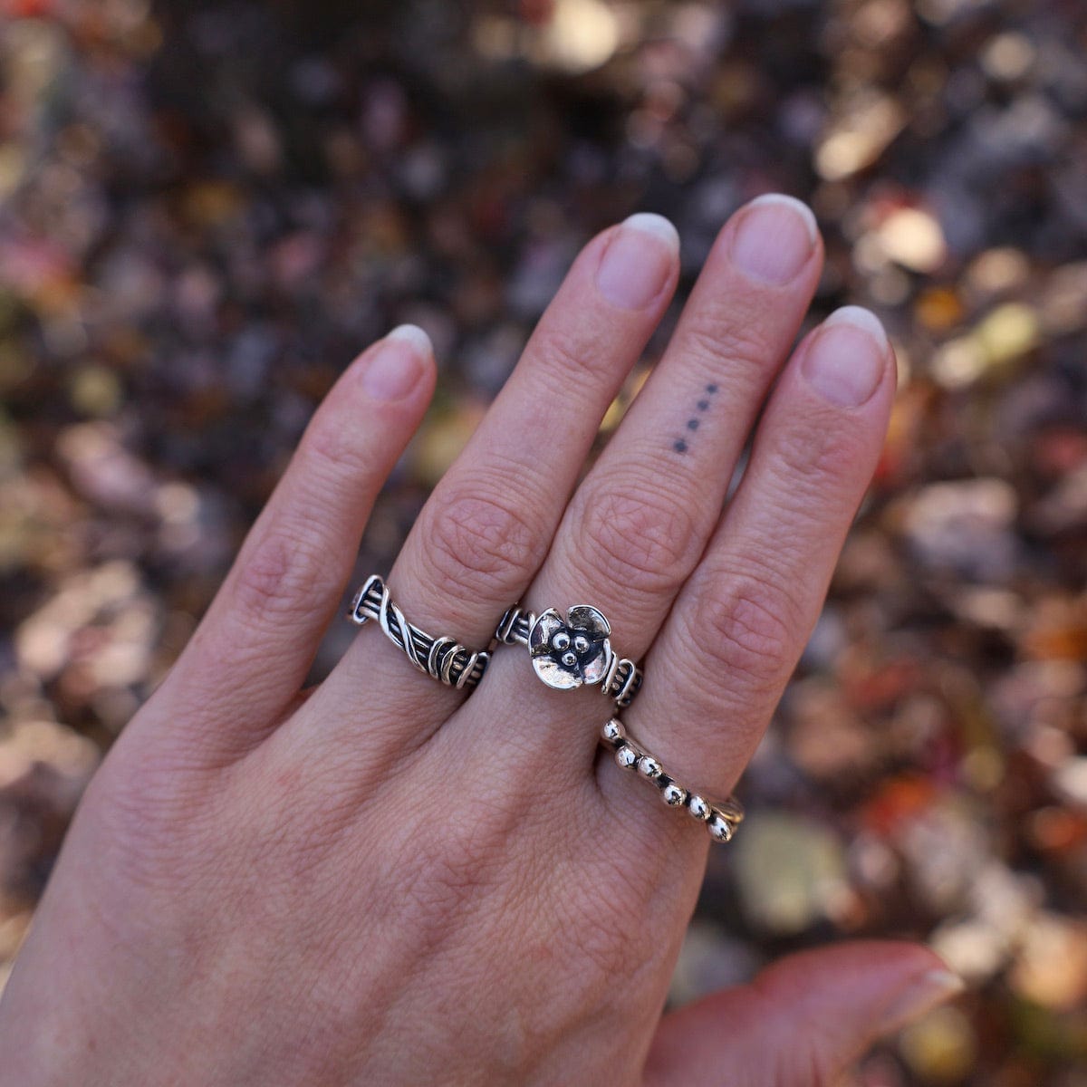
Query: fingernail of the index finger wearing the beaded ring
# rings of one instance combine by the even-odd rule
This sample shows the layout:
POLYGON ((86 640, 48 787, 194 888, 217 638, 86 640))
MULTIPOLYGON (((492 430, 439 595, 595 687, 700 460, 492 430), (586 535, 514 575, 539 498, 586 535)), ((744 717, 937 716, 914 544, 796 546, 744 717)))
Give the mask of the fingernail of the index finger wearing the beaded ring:
POLYGON ((800 370, 824 399, 859 408, 878 387, 889 351, 878 318, 859 305, 846 305, 823 322, 800 370))

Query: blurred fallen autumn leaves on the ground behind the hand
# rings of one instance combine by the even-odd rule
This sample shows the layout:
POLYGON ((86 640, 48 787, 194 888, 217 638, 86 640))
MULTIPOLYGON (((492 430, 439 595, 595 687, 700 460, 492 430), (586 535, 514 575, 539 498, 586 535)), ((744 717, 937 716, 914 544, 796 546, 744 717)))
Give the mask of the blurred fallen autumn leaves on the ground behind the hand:
POLYGON ((400 322, 437 345, 384 571, 594 232, 670 216, 686 289, 778 189, 826 238, 812 320, 873 308, 901 392, 674 998, 922 938, 971 991, 859 1084, 1087 1084, 1082 0, 0 12, 0 985, 346 363, 400 322))

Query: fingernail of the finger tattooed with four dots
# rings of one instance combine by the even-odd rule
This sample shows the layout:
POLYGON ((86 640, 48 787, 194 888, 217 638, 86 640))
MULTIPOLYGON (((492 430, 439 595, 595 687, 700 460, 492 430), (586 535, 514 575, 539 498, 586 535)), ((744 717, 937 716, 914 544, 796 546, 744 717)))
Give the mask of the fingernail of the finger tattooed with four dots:
POLYGON ((755 279, 786 284, 808 263, 819 240, 811 209, 779 192, 752 200, 733 233, 733 263, 755 279))

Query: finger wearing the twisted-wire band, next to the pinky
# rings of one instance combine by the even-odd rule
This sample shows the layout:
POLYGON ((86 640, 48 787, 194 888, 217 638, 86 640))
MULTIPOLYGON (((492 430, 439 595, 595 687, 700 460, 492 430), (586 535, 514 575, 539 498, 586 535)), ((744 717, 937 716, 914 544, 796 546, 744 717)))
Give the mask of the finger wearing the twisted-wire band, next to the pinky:
MULTIPOLYGON (((538 570, 600 418, 672 297, 678 249, 667 221, 639 214, 598 236, 574 262, 397 559, 389 589, 410 622, 465 646, 487 645, 510 598, 538 570)), ((332 719, 367 761, 376 751, 399 758, 465 695, 414 672, 370 629, 311 700, 301 730, 310 735, 320 722, 328 744, 332 719), (355 720, 360 697, 368 711, 365 737, 355 720)))

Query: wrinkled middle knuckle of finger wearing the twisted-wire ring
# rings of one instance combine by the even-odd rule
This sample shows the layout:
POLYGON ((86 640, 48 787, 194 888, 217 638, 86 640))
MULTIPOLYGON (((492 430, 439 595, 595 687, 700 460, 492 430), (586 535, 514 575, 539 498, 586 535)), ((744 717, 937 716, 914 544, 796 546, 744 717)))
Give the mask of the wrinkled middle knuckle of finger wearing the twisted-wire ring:
POLYGON ((447 591, 471 599, 520 585, 542 562, 546 533, 522 507, 525 483, 487 476, 438 488, 421 525, 428 573, 447 591))

